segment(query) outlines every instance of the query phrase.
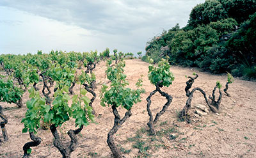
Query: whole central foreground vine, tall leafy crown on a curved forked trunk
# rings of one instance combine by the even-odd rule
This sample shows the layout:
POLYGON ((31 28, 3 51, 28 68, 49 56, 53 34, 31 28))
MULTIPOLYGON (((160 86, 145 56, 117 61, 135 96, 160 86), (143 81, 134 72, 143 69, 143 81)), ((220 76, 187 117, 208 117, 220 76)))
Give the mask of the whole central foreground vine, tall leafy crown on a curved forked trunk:
POLYGON ((125 62, 122 60, 115 65, 111 65, 112 60, 109 59, 107 62, 107 70, 106 74, 111 81, 111 85, 106 86, 103 84, 100 98, 100 104, 102 106, 111 106, 113 110, 113 115, 115 116, 115 122, 113 128, 108 132, 108 139, 107 143, 108 146, 113 153, 113 157, 121 158, 122 155, 120 150, 116 147, 114 141, 114 134, 117 130, 121 127, 121 125, 132 115, 131 108, 133 104, 140 102, 140 95, 143 93, 143 89, 140 87, 142 86, 142 80, 139 79, 138 83, 136 83, 137 89, 131 90, 131 88, 125 88, 125 86, 129 85, 129 83, 125 80, 126 75, 124 73, 125 62), (124 107, 127 112, 123 118, 120 117, 117 107, 122 106, 124 107))

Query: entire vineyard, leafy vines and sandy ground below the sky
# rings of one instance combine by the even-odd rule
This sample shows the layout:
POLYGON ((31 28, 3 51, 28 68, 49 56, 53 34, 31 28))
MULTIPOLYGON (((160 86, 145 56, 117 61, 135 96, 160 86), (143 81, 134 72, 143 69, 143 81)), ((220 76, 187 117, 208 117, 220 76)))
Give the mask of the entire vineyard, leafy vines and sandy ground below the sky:
POLYGON ((256 84, 108 49, 1 55, 1 157, 255 157, 256 84))

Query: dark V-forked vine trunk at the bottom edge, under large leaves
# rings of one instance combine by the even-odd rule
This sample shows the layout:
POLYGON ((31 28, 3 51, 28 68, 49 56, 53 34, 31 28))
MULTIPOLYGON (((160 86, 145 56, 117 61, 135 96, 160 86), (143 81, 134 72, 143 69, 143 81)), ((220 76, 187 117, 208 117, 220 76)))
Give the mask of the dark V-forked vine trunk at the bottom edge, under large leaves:
POLYGON ((54 136, 53 145, 58 148, 63 158, 70 158, 70 155, 74 150, 77 148, 77 134, 81 132, 83 129, 83 125, 79 129, 76 130, 68 130, 68 136, 70 137, 71 141, 68 145, 63 145, 60 136, 58 134, 58 130, 55 125, 51 125, 50 127, 52 135, 54 136))

